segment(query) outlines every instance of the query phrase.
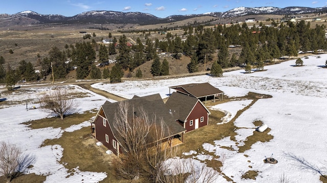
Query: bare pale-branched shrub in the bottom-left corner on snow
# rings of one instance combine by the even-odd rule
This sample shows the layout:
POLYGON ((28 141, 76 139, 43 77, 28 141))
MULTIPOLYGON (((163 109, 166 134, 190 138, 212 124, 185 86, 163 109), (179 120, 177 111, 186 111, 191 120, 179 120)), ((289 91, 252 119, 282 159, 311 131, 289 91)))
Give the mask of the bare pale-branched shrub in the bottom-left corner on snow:
POLYGON ((34 161, 34 157, 24 156, 16 145, 0 143, 0 175, 5 176, 7 182, 22 174, 34 161))

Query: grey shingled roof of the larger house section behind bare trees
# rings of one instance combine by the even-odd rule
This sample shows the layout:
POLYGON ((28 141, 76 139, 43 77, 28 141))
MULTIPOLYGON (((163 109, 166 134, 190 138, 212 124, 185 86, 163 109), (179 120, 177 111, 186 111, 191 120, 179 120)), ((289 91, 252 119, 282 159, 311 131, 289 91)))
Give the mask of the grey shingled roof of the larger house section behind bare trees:
MULTIPOLYGON (((130 107, 129 111, 131 111, 129 113, 130 116, 133 115, 132 114, 133 110, 137 114, 140 107, 142 107, 148 113, 150 119, 156 116, 156 120, 153 121, 153 123, 155 123, 156 125, 160 125, 159 119, 160 117, 162 117, 165 121, 165 124, 168 127, 168 129, 165 130, 164 138, 186 131, 172 118, 171 114, 169 113, 169 110, 166 108, 165 103, 164 101, 162 101, 159 94, 154 94, 146 97, 135 96, 130 100, 122 101, 122 102, 129 103, 129 107, 130 107)), ((120 103, 121 102, 105 103, 104 105, 102 105, 102 109, 106 115, 106 118, 108 119, 108 123, 112 130, 112 133, 118 141, 120 141, 120 137, 118 135, 118 132, 115 130, 113 123, 114 123, 115 113, 118 112, 117 110, 120 103)))

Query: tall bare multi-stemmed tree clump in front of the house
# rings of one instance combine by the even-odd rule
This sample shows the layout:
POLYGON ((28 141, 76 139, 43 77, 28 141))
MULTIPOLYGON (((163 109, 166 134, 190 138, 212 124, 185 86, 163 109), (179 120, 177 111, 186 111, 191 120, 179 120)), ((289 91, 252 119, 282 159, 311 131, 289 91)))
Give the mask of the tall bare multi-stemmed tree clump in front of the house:
POLYGON ((121 102, 117 111, 113 124, 122 149, 120 160, 115 162, 118 175, 127 179, 142 177, 148 182, 183 182, 173 180, 163 167, 163 162, 174 155, 162 141, 169 134, 164 120, 156 115, 149 117, 143 108, 135 110, 128 102, 121 102))

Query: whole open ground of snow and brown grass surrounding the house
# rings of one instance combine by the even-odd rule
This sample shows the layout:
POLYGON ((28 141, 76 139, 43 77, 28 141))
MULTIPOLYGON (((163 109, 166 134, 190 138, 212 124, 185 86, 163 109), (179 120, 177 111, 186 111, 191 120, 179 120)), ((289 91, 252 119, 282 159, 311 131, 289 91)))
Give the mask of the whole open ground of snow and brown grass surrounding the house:
MULTIPOLYGON (((326 182, 317 172, 300 169, 298 162, 288 156, 304 158, 318 167, 327 161, 327 69, 322 67, 325 59, 326 54, 313 55, 303 59, 302 67, 292 67, 295 60, 290 60, 266 66, 264 72, 243 74, 238 70, 224 73, 222 78, 201 75, 98 83, 92 87, 124 98, 155 93, 167 98, 173 92, 168 86, 209 82, 227 97, 206 104, 212 112, 209 125, 184 134, 184 144, 178 147, 180 158, 170 159, 171 162, 187 160, 192 165, 214 169, 220 175, 215 182, 276 182, 283 174, 292 182, 326 182), (263 123, 269 128, 264 133, 256 132, 255 128, 263 123), (266 156, 273 156, 278 163, 265 164, 266 156)), ((6 103, 0 102, 0 113, 5 116, 0 119, 0 137, 35 157, 27 175, 15 181, 126 182, 114 177, 110 166, 114 157, 105 154, 106 149, 97 146, 90 136, 89 122, 107 99, 75 85, 67 88, 79 107, 76 114, 63 121, 50 118, 51 114, 38 108, 37 98, 51 87, 2 93, 6 103), (37 109, 26 110, 24 100, 28 98, 32 99, 28 107, 36 105, 37 109)))

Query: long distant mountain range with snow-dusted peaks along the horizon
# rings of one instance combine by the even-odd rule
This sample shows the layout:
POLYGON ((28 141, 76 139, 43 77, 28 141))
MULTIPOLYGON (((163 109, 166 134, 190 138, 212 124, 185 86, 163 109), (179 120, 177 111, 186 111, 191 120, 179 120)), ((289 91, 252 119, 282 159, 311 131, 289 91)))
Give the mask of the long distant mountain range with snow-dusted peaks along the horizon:
POLYGON ((73 17, 62 15, 42 15, 33 11, 24 11, 16 14, 0 14, 0 27, 27 26, 38 24, 158 24, 170 23, 199 16, 213 16, 217 18, 239 17, 245 15, 295 15, 307 13, 327 12, 327 7, 239 7, 226 12, 209 12, 204 14, 172 15, 158 18, 152 14, 141 12, 115 12, 115 11, 88 11, 73 17))

